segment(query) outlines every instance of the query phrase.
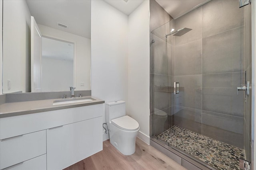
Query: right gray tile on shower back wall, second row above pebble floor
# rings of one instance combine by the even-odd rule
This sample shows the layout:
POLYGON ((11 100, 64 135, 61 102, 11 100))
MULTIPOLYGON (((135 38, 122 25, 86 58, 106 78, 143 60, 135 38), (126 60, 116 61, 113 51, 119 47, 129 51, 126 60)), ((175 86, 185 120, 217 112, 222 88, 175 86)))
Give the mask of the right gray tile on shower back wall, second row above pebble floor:
POLYGON ((202 111, 202 123, 212 127, 244 134, 244 118, 231 115, 224 115, 210 111, 202 111))

